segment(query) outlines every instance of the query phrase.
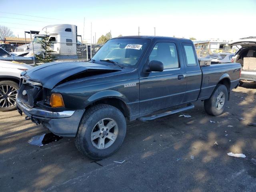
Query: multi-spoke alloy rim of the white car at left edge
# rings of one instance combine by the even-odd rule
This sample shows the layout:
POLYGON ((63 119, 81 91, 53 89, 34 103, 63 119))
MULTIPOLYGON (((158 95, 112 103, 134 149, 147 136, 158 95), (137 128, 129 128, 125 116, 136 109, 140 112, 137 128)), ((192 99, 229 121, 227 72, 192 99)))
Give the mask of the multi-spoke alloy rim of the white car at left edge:
POLYGON ((10 108, 16 105, 18 90, 14 86, 0 86, 0 108, 10 108))

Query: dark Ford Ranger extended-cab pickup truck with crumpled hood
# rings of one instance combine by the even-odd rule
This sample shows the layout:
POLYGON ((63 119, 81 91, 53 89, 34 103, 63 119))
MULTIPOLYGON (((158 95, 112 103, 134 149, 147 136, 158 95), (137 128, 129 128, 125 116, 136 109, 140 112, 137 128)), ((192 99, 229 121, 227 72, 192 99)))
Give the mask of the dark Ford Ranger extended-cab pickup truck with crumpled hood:
POLYGON ((222 114, 240 72, 238 63, 198 60, 191 40, 118 37, 88 62, 51 62, 23 72, 16 102, 26 119, 75 137, 82 154, 102 159, 121 146, 126 121, 183 112, 198 100, 208 114, 222 114))

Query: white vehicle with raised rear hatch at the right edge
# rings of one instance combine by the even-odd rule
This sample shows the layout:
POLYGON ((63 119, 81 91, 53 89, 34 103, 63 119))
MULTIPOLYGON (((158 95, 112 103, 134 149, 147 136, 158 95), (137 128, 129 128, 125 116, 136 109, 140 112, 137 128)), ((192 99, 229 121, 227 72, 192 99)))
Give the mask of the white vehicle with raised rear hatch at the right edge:
POLYGON ((229 43, 230 46, 241 46, 231 62, 242 66, 240 84, 256 82, 256 37, 246 37, 229 43))

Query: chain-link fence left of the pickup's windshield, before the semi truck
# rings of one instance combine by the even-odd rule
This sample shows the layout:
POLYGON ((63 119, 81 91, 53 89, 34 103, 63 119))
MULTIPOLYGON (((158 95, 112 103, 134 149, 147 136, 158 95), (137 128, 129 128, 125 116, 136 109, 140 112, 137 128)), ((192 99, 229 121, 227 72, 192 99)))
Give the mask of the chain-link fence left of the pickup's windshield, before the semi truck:
MULTIPOLYGON (((26 44, 25 41, 0 40, 0 60, 16 61, 26 64, 40 64, 36 56, 44 58, 44 50, 39 42, 26 44)), ((50 50, 55 61, 88 61, 102 44, 72 42, 51 42, 50 50)))

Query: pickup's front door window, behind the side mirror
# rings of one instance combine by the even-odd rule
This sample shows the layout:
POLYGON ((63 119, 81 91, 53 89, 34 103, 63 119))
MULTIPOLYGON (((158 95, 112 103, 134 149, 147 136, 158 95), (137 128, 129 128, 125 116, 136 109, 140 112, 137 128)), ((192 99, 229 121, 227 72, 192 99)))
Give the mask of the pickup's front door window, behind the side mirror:
POLYGON ((162 62, 164 69, 178 68, 179 62, 176 45, 170 42, 157 43, 149 56, 149 60, 162 62))

